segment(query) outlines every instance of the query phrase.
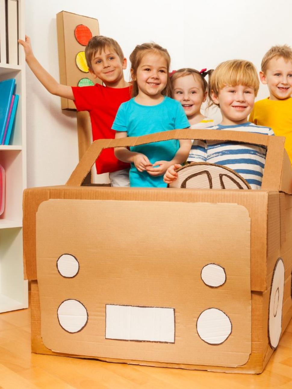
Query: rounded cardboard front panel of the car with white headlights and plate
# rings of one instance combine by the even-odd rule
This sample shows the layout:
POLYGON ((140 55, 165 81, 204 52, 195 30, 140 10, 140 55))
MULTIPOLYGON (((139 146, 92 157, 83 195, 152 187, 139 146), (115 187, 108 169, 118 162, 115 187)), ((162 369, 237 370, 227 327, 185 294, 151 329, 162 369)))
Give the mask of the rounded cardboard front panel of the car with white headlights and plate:
POLYGON ((44 345, 84 356, 245 364, 250 223, 237 204, 176 202, 173 212, 173 202, 42 202, 37 274, 44 345))

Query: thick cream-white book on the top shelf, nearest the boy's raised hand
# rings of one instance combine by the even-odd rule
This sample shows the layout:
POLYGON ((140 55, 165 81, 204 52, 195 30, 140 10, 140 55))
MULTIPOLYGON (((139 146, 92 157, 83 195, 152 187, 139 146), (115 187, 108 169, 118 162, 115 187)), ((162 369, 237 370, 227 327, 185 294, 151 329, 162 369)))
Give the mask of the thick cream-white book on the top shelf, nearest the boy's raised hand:
POLYGON ((7 60, 18 65, 18 4, 17 0, 7 0, 7 60))

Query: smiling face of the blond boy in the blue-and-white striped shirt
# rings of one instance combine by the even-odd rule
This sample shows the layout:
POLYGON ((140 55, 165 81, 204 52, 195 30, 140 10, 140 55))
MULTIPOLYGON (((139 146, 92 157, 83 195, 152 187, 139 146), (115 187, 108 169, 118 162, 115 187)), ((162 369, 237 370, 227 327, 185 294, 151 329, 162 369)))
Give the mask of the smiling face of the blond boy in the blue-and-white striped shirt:
POLYGON ((235 125, 247 122, 254 106, 254 88, 245 85, 224 86, 218 95, 211 92, 212 100, 219 105, 222 125, 235 125))

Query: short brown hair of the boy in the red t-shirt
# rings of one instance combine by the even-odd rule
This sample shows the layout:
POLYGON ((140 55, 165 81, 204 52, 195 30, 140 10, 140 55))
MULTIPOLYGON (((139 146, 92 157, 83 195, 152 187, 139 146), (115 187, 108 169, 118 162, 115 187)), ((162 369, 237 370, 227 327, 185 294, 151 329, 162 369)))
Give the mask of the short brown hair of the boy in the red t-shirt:
POLYGON ((118 54, 118 57, 120 58, 121 62, 123 62, 123 59, 125 57, 118 42, 116 42, 115 39, 104 37, 103 35, 96 35, 88 41, 87 46, 85 47, 85 58, 87 66, 90 70, 93 70, 91 66, 92 56, 98 51, 102 52, 105 49, 113 49, 116 54, 118 54))

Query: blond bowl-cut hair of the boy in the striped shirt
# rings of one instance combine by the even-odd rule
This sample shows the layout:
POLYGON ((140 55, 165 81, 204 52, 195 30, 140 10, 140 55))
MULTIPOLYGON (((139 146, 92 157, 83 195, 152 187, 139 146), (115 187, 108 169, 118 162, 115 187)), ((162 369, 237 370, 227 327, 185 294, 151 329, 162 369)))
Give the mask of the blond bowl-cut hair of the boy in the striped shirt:
MULTIPOLYGON (((209 81, 209 99, 211 92, 218 96, 224 86, 245 85, 254 88, 254 94, 259 90, 259 77, 255 66, 250 61, 229 60, 221 62, 212 73, 209 81)), ((213 104, 216 104, 213 102, 213 104)), ((217 105, 217 104, 216 104, 217 105)))

